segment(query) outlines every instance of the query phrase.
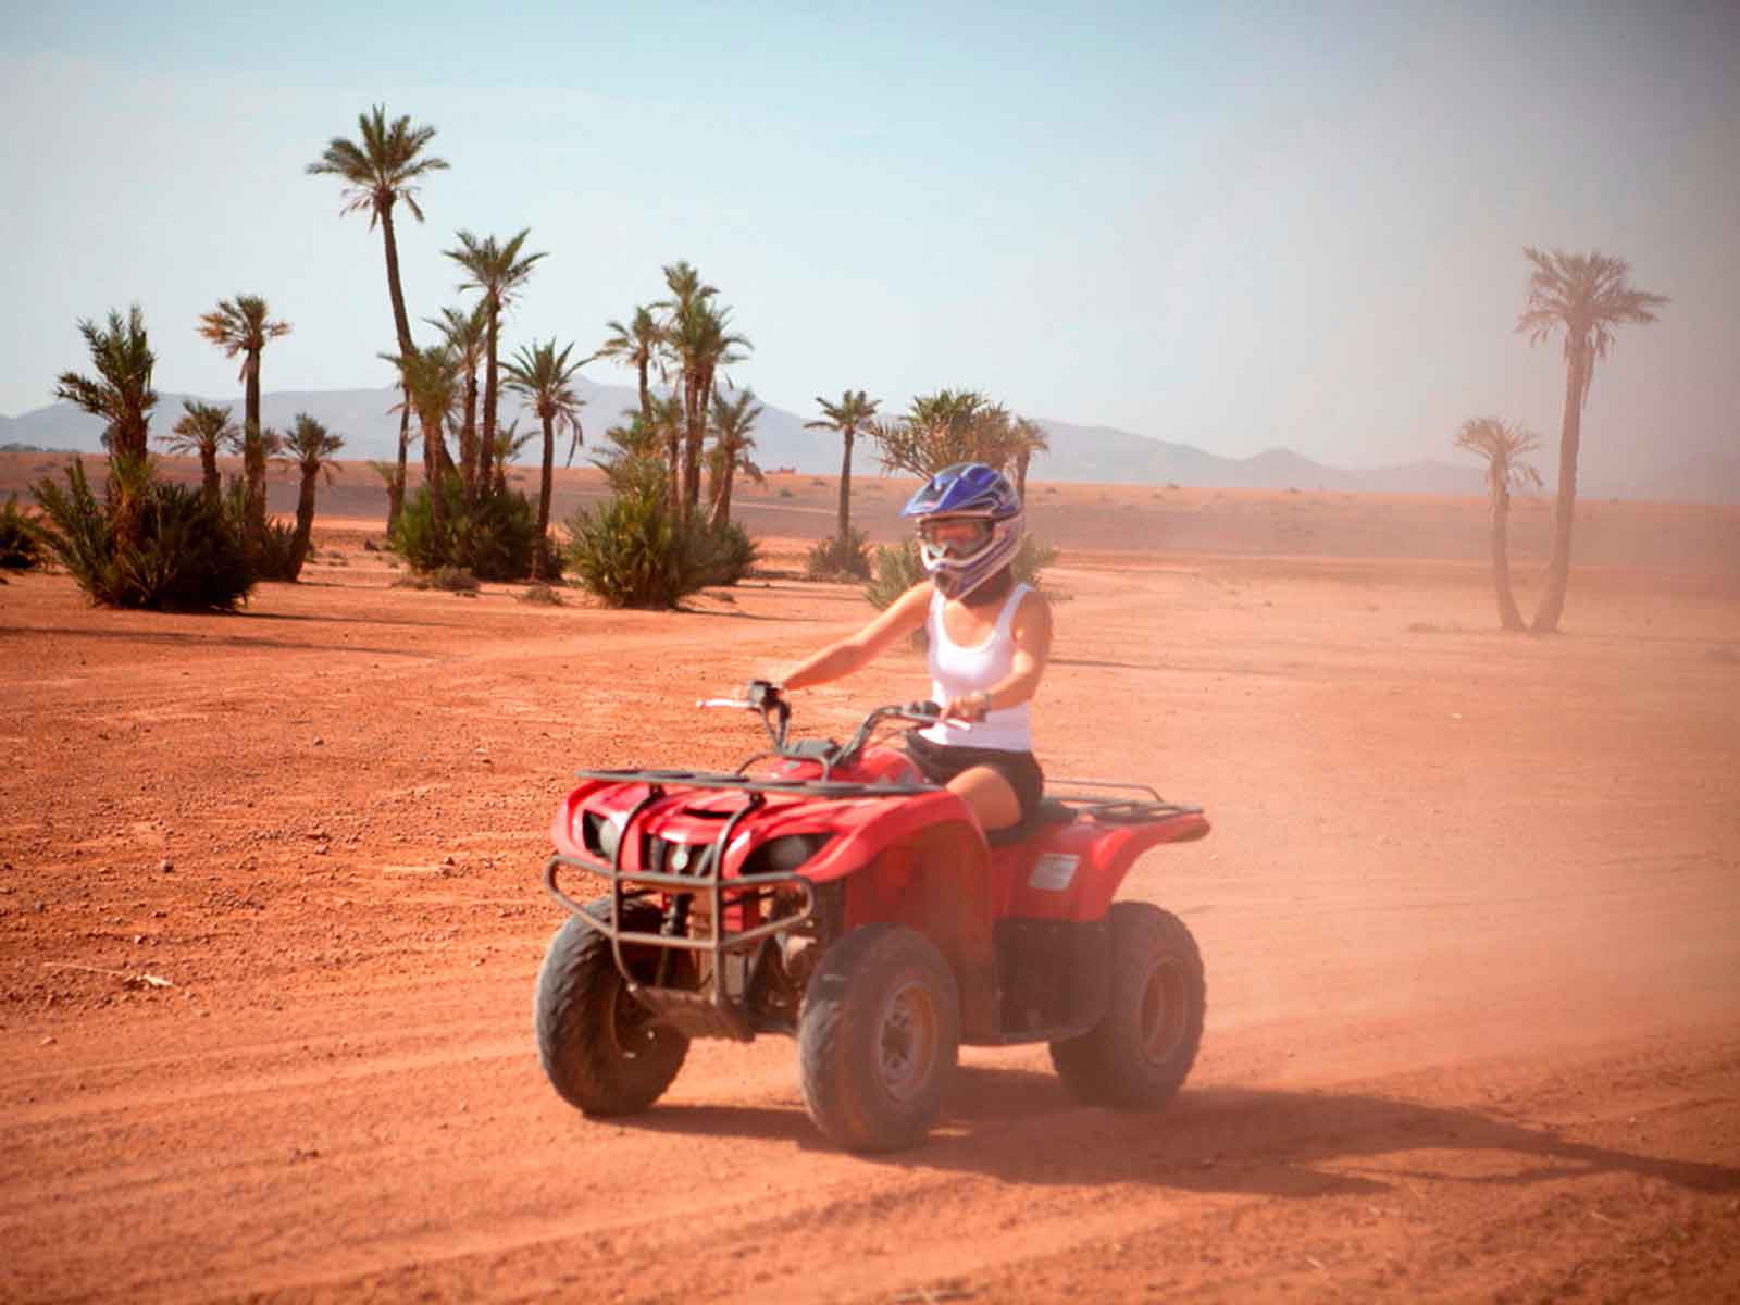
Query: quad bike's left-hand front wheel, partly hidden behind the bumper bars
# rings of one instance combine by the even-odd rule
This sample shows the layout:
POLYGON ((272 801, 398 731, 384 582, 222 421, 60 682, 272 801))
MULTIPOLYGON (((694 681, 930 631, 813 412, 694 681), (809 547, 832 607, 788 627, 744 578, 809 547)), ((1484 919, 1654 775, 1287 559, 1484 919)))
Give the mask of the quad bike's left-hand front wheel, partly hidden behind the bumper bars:
MULTIPOLYGON (((588 901, 586 914, 609 919, 611 900, 588 901)), ((659 914, 651 907, 623 912, 623 927, 656 933, 658 926, 659 914)), ((652 981, 654 948, 625 947, 623 957, 637 981, 652 981)), ((686 966, 687 959, 677 962, 686 966)), ((572 917, 545 952, 532 1023, 550 1084, 588 1115, 646 1110, 665 1094, 689 1053, 689 1039, 670 1025, 652 1023, 647 1007, 628 992, 611 940, 572 917)))

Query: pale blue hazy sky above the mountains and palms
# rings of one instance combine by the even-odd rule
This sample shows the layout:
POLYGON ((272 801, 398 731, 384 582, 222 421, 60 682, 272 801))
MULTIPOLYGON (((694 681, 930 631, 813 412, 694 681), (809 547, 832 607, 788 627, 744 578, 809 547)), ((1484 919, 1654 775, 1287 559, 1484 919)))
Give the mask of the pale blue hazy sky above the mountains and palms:
POLYGON ((1601 249, 1674 303, 1597 374, 1585 466, 1740 444, 1733 0, 492 9, 0 0, 0 412, 132 301, 160 390, 237 393, 193 324, 238 292, 296 327, 270 390, 386 385, 379 233, 303 174, 385 103, 452 164, 398 228, 414 322, 461 303, 456 228, 550 252, 510 346, 590 351, 686 258, 781 407, 964 386, 1228 456, 1455 459, 1467 416, 1557 437, 1522 245, 1601 249))

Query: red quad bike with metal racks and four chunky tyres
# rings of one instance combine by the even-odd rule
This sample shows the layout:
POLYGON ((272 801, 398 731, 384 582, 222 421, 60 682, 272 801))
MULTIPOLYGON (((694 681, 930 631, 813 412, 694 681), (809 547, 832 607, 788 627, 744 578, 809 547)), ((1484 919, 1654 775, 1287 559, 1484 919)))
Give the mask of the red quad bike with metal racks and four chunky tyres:
POLYGON ((651 1107, 689 1041, 797 1037, 804 1101, 851 1150, 919 1141, 960 1042, 1049 1042, 1094 1105, 1154 1108, 1202 1039, 1202 959, 1183 922, 1112 901, 1136 856, 1208 833, 1145 785, 1063 780, 988 839, 907 755, 873 745, 934 703, 880 706, 844 745, 788 741, 790 706, 752 682, 773 750, 731 774, 579 771, 545 886, 569 919, 538 974, 538 1054, 588 1115, 651 1107), (1114 790, 1114 792, 1105 792, 1114 790), (1138 797, 1131 797, 1136 793, 1138 797), (579 903, 562 875, 611 891, 579 903))

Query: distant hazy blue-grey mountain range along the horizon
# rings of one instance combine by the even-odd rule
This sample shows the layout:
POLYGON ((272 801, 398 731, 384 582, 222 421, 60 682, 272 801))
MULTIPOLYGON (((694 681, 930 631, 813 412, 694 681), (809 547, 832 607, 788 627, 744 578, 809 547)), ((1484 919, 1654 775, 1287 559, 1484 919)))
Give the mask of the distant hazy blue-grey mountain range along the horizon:
MULTIPOLYGON (((586 409, 581 414, 586 444, 595 447, 606 426, 621 419, 626 409, 637 405, 635 390, 623 385, 595 385, 581 379, 578 385, 586 409)), ((181 414, 181 402, 190 395, 164 393, 151 423, 158 435, 167 435, 181 414)), ((193 395, 198 398, 198 395, 193 395)), ((226 402, 240 414, 240 400, 226 402)), ((398 418, 392 407, 398 402, 397 390, 284 390, 261 397, 261 419, 268 426, 287 428, 298 412, 308 412, 345 437, 345 458, 392 458, 398 440, 398 418)), ((501 405, 505 418, 517 414, 515 400, 501 405)), ((534 418, 520 414, 522 428, 536 425, 534 418)), ((785 409, 766 405, 755 423, 755 461, 766 468, 790 466, 807 475, 832 475, 840 466, 840 445, 830 432, 804 430, 806 418, 785 409)), ((1477 465, 1437 461, 1402 463, 1399 466, 1340 468, 1312 461, 1291 449, 1268 449, 1255 458, 1221 458, 1190 444, 1134 435, 1112 426, 1077 426, 1067 421, 1042 421, 1051 437, 1051 452, 1034 459, 1030 477, 1035 480, 1100 482, 1100 484, 1180 484, 1213 485, 1227 489, 1335 489, 1375 494, 1482 494, 1477 465)), ((0 445, 26 444, 42 449, 68 449, 97 452, 103 447, 103 425, 80 412, 71 404, 54 404, 17 418, 0 416, 0 445)), ((414 426, 412 426, 414 435, 414 426)), ((872 451, 860 442, 854 466, 873 470, 872 451)), ((560 454, 567 449, 562 447, 560 454)), ((1549 451, 1550 454, 1550 451, 1549 451)), ((418 454, 412 452, 416 458, 418 454)), ((585 452, 581 454, 585 456, 585 452)), ((522 454, 524 459, 524 454, 522 454)), ((1540 470, 1550 480, 1550 456, 1540 459, 1540 470)), ((1583 492, 1599 498, 1648 498, 1700 503, 1740 503, 1740 454, 1707 458, 1681 466, 1665 468, 1643 480, 1608 484, 1583 477, 1583 492)))

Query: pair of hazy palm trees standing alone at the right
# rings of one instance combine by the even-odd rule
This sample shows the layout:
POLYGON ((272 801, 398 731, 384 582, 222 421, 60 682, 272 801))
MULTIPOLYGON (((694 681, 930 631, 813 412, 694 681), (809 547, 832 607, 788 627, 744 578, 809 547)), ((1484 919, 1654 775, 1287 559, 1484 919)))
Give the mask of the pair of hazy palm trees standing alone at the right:
POLYGON ((1559 428, 1559 484, 1554 499, 1552 552, 1535 618, 1528 625, 1510 592, 1507 520, 1510 491, 1538 487, 1540 472, 1524 458, 1540 447, 1540 437, 1502 418, 1470 418, 1455 435, 1455 445, 1486 461, 1486 489, 1491 501, 1493 588, 1498 595, 1498 619, 1505 630, 1552 633, 1564 612, 1564 595, 1571 576, 1571 525, 1576 519, 1576 459, 1582 449, 1583 407, 1596 364, 1613 348, 1620 325, 1655 322, 1655 310, 1667 296, 1639 291, 1630 284, 1630 264, 1608 254, 1522 251, 1529 261, 1528 301, 1517 318, 1517 332, 1531 345, 1554 336, 1564 338, 1564 412, 1559 428))

